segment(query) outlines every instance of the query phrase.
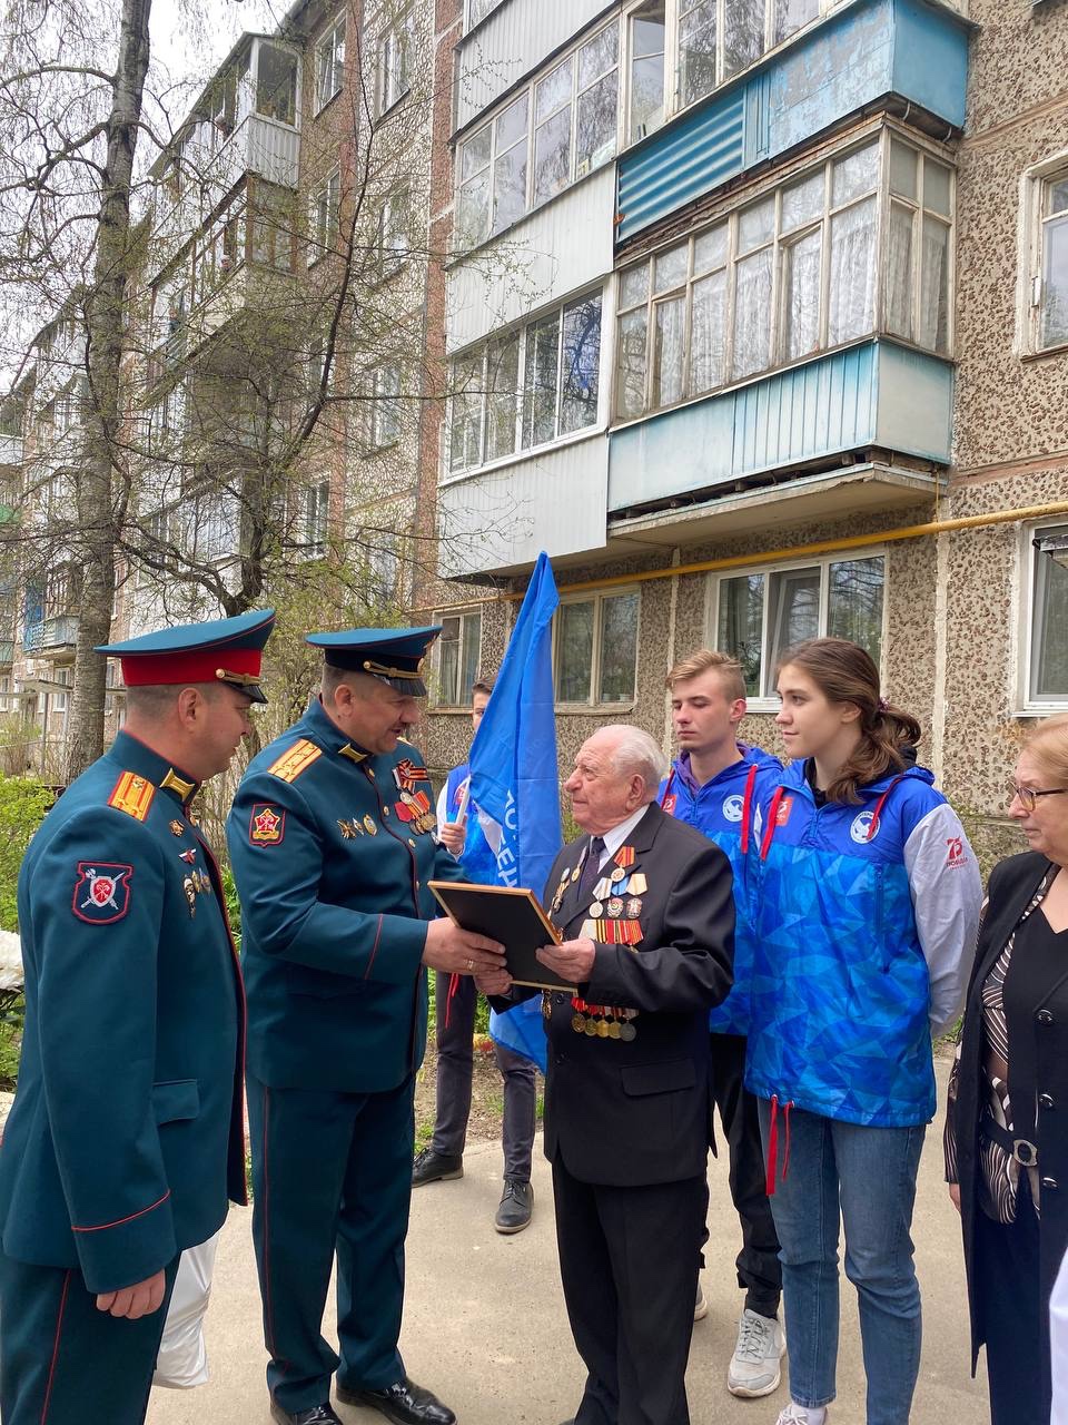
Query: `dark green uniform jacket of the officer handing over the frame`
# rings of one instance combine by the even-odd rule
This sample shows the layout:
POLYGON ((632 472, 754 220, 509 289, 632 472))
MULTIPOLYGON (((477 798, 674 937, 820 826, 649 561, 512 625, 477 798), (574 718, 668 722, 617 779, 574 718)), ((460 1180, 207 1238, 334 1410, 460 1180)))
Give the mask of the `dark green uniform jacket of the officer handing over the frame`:
POLYGON ((422 1063, 427 882, 463 879, 434 825, 419 751, 369 755, 318 701, 249 764, 226 839, 265 1084, 382 1093, 422 1063))

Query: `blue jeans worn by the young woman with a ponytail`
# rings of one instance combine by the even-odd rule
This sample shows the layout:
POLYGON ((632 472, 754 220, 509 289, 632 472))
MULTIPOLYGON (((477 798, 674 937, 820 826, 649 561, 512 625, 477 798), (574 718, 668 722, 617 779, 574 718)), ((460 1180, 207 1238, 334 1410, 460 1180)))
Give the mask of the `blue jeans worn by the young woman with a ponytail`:
MULTIPOLYGON (((765 1153, 770 1104, 760 1100, 765 1153)), ((846 1275, 860 1300, 867 1425, 907 1425, 920 1369, 920 1287, 913 1264, 913 1203, 926 1124, 869 1129, 790 1110, 790 1157, 772 1197, 779 1233, 790 1395, 834 1399, 839 1354, 839 1210, 846 1275)))

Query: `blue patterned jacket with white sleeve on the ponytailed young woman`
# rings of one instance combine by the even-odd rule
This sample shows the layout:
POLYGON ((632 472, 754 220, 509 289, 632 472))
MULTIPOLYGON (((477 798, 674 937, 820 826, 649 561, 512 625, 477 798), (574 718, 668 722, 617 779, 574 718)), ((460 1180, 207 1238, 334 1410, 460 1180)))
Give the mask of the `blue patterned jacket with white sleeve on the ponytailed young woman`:
POLYGON ((928 771, 817 808, 805 768, 762 795, 746 858, 746 1087, 847 1123, 926 1123, 931 1033, 960 1009, 975 943, 975 856, 928 771))

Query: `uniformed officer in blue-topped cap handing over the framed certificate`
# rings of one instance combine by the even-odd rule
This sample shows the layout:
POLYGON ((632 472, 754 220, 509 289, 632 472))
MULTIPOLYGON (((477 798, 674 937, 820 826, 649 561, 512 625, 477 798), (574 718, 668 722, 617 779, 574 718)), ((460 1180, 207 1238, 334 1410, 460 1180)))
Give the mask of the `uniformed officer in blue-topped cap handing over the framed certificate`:
POLYGON ((252 1231, 281 1425, 330 1425, 337 1398, 399 1425, 454 1416, 397 1351, 426 966, 470 975, 493 940, 434 919, 426 768, 404 734, 430 628, 309 634, 320 697, 249 765, 226 826, 249 1005, 252 1231), (322 1335, 335 1254, 340 1358, 322 1335))

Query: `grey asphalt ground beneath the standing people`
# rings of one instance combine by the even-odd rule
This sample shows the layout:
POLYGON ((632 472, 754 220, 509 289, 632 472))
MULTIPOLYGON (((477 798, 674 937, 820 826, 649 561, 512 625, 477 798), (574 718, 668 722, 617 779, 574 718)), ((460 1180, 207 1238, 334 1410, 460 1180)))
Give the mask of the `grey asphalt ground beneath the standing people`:
MULTIPOLYGON (((940 1104, 948 1062, 938 1062, 940 1104)), ((493 1230, 501 1156, 496 1143, 468 1146, 464 1177, 417 1188, 407 1238, 407 1295, 402 1351, 409 1375, 430 1387, 461 1425, 537 1422, 574 1415, 584 1371, 571 1341, 557 1270, 553 1187, 535 1151, 531 1226, 514 1237, 493 1230)), ((786 1404, 783 1385, 760 1401, 726 1391, 742 1294, 733 1258, 738 1218, 726 1160, 709 1164, 709 1231, 702 1273, 708 1317, 693 1327, 688 1394, 693 1425, 773 1425, 786 1404)), ((152 1392, 150 1425, 268 1422, 259 1292, 251 1211, 234 1208, 222 1234, 205 1324, 211 1379, 192 1391, 152 1392)), ((913 1223, 923 1288, 924 1347, 913 1425, 965 1425, 988 1419, 983 1362, 970 1379, 967 1302, 960 1227, 943 1183, 941 1109, 927 1130, 913 1223)), ((333 1297, 328 1304, 328 1324, 333 1297)), ((328 1328, 328 1335, 330 1334, 328 1328)), ((785 1365, 785 1362, 783 1362, 785 1365)), ((335 1406, 352 1425, 380 1425, 375 1411, 335 1406)), ((856 1292, 843 1277, 839 1398, 830 1425, 863 1425, 864 1374, 856 1292)), ((1022 1422, 1021 1422, 1022 1425, 1022 1422)))

